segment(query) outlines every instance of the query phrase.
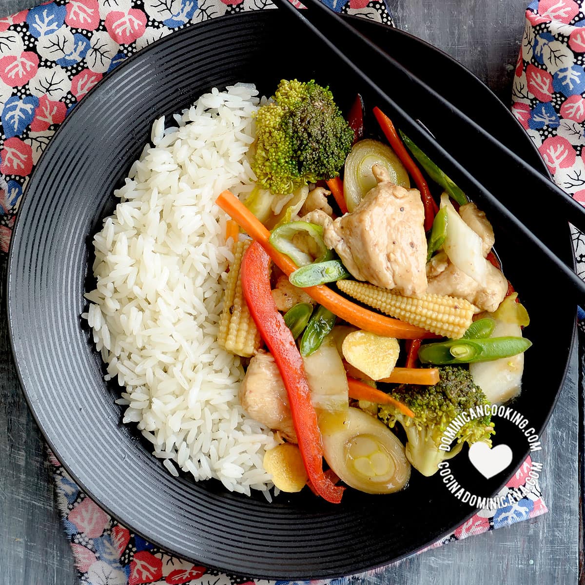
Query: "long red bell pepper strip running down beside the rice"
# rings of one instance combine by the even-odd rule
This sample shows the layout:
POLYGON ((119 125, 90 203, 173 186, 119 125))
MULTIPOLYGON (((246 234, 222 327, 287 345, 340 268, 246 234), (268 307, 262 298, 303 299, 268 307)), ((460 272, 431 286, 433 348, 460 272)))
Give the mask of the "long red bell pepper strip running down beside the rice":
POLYGON ((335 486, 323 473, 323 446, 302 357, 290 329, 278 312, 270 290, 270 256, 258 242, 242 259, 242 292, 250 314, 283 377, 292 424, 312 486, 325 500, 338 504, 345 488, 335 486))

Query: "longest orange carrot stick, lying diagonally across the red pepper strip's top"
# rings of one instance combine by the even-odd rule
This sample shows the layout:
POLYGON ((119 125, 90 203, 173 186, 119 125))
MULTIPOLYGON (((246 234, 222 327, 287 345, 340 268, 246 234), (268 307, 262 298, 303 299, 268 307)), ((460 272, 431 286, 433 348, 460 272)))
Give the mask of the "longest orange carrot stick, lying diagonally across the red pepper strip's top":
MULTIPOLYGON (((266 250, 274 264, 280 268, 287 276, 297 269, 297 265, 285 254, 275 250, 270 245, 270 232, 264 225, 252 214, 249 209, 229 191, 223 191, 216 199, 216 204, 219 205, 235 222, 238 223, 252 239, 259 242, 266 250)), ((420 327, 415 327, 400 321, 399 319, 392 319, 385 315, 374 313, 369 309, 360 307, 355 303, 347 300, 345 297, 332 291, 323 285, 317 287, 303 288, 307 294, 314 298, 319 304, 335 313, 343 321, 377 333, 378 335, 386 335, 387 337, 394 337, 397 339, 418 339, 418 338, 435 338, 436 335, 429 331, 425 331, 420 327)))

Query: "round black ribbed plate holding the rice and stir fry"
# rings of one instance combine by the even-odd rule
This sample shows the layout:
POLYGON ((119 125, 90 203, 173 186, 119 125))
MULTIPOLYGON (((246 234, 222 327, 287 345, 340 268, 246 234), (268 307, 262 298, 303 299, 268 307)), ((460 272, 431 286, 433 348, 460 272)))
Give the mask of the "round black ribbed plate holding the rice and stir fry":
MULTIPOLYGON (((469 71, 398 30, 352 22, 474 118, 489 112, 498 137, 545 172, 524 130, 469 71)), ((82 488, 123 524, 177 555, 281 579, 383 565, 445 535, 473 510, 438 476, 418 473, 399 494, 347 490, 340 505, 310 493, 280 495, 269 504, 262 495, 228 493, 215 481, 175 479, 136 429, 121 424, 122 409, 114 403, 119 388, 104 382, 80 314, 91 276, 91 236, 111 213, 112 191, 149 139, 154 118, 180 111, 211 87, 253 81, 270 93, 280 78, 294 77, 331 85, 342 107, 349 106, 360 89, 356 81, 325 48, 302 42, 298 26, 279 11, 214 19, 153 44, 98 84, 37 164, 20 206, 8 276, 12 347, 26 398, 51 449, 82 488)), ((566 222, 552 211, 548 223, 559 253, 572 258, 566 222)), ((556 304, 555 315, 545 314, 542 275, 526 267, 517 235, 495 228, 504 267, 532 315, 534 347, 515 408, 540 432, 565 375, 574 308, 556 304)), ((525 439, 504 422, 497 437, 512 446, 515 469, 528 452, 525 439)), ((479 495, 494 493, 512 469, 486 481, 465 455, 452 468, 479 495)))

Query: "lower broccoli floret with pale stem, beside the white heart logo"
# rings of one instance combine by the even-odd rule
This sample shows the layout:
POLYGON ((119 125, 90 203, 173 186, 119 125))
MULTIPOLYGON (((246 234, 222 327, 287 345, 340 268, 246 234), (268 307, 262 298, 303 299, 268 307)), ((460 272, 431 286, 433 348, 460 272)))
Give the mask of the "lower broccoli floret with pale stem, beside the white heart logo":
POLYGON ((437 465, 444 459, 457 455, 463 443, 472 445, 476 441, 485 441, 491 446, 494 424, 491 415, 473 418, 459 424, 455 419, 470 408, 489 405, 486 395, 473 382, 469 369, 462 366, 442 366, 439 368, 439 382, 435 386, 415 386, 402 384, 391 395, 406 404, 414 412, 414 418, 401 414, 394 407, 384 405, 378 411, 378 417, 392 428, 400 422, 407 435, 406 455, 412 466, 424 476, 431 476, 438 470, 437 465), (449 451, 439 449, 443 433, 450 423, 456 430, 456 445, 449 451))

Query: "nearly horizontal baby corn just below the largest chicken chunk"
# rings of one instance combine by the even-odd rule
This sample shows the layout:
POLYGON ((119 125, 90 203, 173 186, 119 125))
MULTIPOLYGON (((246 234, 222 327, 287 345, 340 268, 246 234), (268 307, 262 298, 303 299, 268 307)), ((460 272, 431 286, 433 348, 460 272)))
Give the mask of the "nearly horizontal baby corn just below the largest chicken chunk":
POLYGON ((340 290, 387 315, 444 335, 451 339, 463 337, 472 324, 475 307, 462 298, 425 294, 420 298, 403 297, 385 288, 356 280, 339 280, 340 290))

